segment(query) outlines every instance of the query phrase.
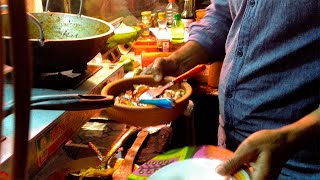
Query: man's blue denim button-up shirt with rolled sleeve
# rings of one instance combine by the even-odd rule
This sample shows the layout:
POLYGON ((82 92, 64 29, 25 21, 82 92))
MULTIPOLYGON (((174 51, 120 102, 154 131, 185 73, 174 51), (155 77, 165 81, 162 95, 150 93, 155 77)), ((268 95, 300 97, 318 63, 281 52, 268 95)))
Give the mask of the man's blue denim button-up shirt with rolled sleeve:
MULTIPOLYGON (((227 145, 319 107, 319 0, 212 0, 189 40, 211 59, 224 57, 219 109, 227 145)), ((319 139, 290 159, 280 178, 320 179, 319 139)))

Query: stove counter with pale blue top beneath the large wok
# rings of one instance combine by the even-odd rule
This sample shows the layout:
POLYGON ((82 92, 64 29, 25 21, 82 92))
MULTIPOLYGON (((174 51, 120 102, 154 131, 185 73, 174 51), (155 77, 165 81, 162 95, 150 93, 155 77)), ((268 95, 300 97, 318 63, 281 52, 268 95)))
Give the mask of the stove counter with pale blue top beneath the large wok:
MULTIPOLYGON (((84 72, 41 74, 34 79, 32 96, 56 94, 100 94, 109 82, 124 77, 123 67, 95 57, 84 72)), ((4 87, 4 102, 14 99, 10 80, 4 87)), ((35 175, 87 121, 99 110, 61 111, 32 110, 29 130, 29 161, 27 172, 35 175)), ((3 119, 0 171, 9 172, 13 152, 14 114, 3 119)))

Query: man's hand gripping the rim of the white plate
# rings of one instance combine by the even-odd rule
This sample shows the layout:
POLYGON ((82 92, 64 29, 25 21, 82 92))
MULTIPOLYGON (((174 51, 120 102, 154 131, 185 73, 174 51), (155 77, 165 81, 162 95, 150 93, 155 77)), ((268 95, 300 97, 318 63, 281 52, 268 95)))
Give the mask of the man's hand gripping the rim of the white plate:
POLYGON ((243 141, 232 158, 218 166, 216 171, 221 175, 231 175, 243 164, 249 164, 252 179, 277 179, 290 155, 286 135, 281 130, 262 130, 243 141))

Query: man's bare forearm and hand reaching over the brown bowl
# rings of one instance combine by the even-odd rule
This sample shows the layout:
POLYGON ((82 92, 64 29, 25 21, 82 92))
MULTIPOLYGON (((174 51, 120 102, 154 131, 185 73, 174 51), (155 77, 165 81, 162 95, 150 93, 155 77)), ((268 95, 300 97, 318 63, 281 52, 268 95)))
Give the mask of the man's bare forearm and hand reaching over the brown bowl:
POLYGON ((178 76, 207 61, 205 49, 195 41, 188 41, 170 56, 156 58, 142 74, 152 74, 156 81, 161 81, 166 75, 178 76))

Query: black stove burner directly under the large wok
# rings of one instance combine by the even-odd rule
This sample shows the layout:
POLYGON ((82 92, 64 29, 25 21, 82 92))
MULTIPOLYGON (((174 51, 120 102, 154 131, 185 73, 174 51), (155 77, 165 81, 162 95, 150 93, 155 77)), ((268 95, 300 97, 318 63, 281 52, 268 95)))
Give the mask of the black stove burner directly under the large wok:
POLYGON ((99 65, 88 65, 87 70, 78 72, 58 72, 41 74, 34 79, 35 88, 47 88, 56 90, 75 89, 89 77, 98 72, 102 67, 99 65))

